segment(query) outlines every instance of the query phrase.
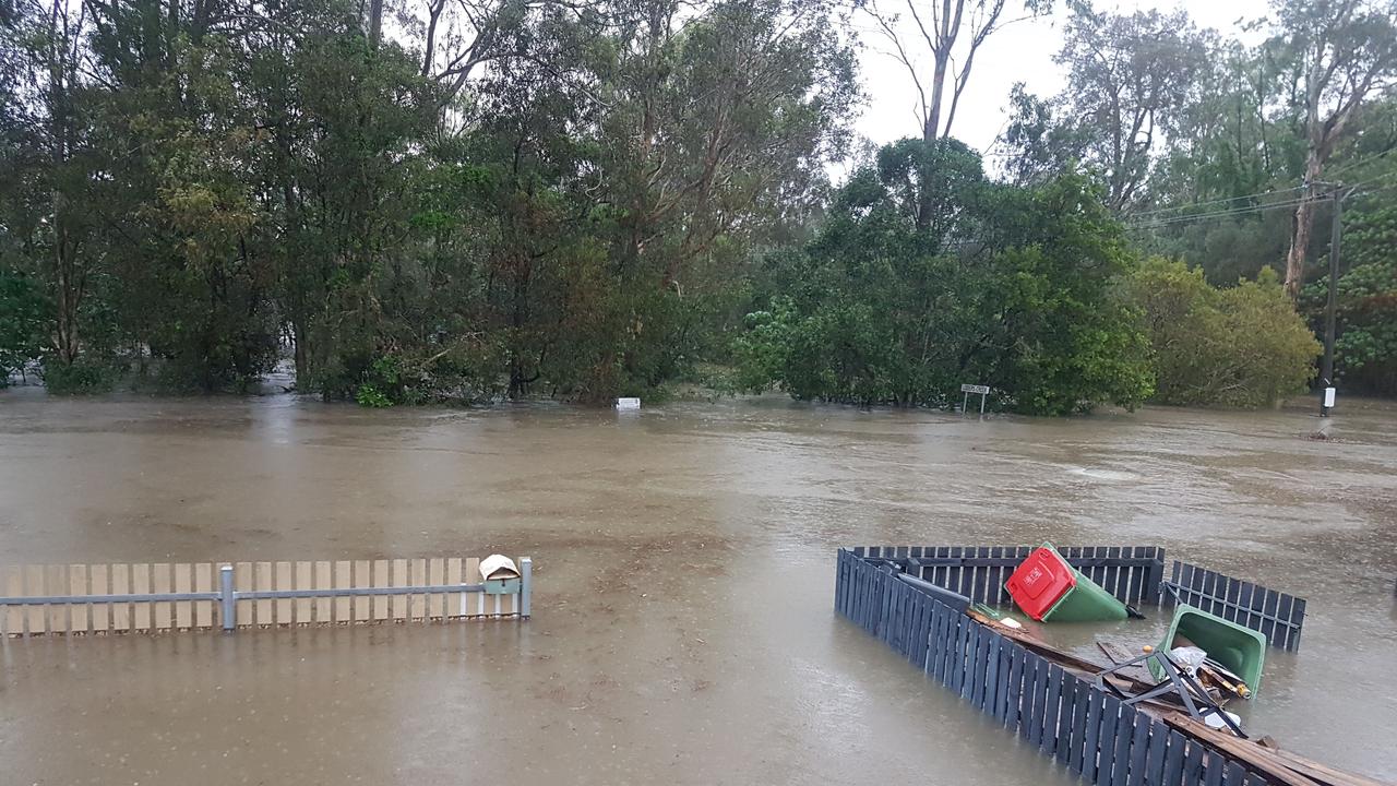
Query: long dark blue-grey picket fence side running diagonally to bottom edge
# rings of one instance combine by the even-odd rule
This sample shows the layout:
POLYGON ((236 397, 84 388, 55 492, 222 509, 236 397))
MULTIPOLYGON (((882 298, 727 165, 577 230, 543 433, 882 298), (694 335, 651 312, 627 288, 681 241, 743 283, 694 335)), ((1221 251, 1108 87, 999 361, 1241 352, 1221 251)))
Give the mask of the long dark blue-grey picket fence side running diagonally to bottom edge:
POLYGON ((1006 730, 1097 786, 1256 786, 1264 775, 840 550, 840 614, 1006 730))

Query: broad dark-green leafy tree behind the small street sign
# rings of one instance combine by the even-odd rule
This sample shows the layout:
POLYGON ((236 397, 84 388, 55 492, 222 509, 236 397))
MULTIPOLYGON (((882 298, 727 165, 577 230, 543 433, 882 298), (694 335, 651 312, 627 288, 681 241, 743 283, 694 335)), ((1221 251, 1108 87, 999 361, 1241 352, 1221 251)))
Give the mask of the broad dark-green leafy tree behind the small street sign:
POLYGON ((813 242, 768 259, 773 292, 735 340, 742 386, 944 406, 982 382, 1031 414, 1148 396, 1144 338, 1111 292, 1130 256, 1087 182, 996 186, 960 143, 923 144, 884 148, 813 242), (946 218, 918 228, 928 186, 946 218))

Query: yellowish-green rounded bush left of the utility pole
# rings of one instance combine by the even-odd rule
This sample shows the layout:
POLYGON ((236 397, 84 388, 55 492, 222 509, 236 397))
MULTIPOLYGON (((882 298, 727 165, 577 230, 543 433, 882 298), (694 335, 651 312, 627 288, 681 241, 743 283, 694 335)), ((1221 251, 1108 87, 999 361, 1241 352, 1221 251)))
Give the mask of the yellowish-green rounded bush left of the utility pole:
POLYGON ((1157 401, 1261 407, 1313 378, 1320 345, 1270 269, 1218 290, 1201 269, 1151 257, 1125 288, 1154 348, 1157 401))

